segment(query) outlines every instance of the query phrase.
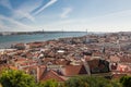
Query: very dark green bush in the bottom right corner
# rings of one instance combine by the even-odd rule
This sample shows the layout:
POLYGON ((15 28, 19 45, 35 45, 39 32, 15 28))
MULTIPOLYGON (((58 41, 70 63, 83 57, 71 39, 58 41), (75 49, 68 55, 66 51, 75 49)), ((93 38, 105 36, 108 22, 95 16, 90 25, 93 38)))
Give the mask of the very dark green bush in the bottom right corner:
POLYGON ((131 76, 123 76, 120 78, 120 83, 123 87, 131 87, 131 76))

